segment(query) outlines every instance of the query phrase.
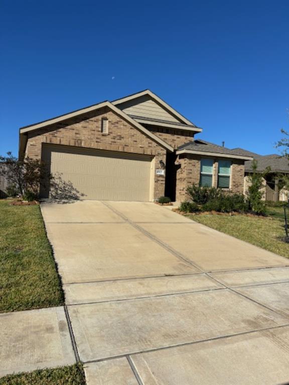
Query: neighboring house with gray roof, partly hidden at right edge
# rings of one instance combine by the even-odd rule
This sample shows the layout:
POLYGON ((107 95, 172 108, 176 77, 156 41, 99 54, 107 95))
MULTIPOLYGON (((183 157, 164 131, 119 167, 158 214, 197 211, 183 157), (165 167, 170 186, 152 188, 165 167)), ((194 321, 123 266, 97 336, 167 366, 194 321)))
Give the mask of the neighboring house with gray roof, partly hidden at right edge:
MULTIPOLYGON (((259 155, 243 148, 234 148, 233 152, 252 156, 257 161, 257 172, 270 171, 263 178, 263 200, 266 201, 287 201, 289 191, 284 188, 283 176, 289 177, 289 160, 278 154, 259 155)), ((248 175, 252 172, 252 161, 245 161, 245 182, 244 193, 249 185, 248 175)))

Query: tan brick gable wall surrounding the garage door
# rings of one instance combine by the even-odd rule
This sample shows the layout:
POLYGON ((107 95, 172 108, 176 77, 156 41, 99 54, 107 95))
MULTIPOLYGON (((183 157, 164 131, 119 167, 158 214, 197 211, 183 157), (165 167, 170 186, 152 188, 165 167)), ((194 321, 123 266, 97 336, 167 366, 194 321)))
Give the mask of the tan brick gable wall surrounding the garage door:
MULTIPOLYGON (((26 156, 41 158, 42 143, 155 155, 155 169, 166 162, 166 150, 108 108, 62 121, 28 133, 26 156), (108 119, 108 135, 101 119, 108 119)), ((154 198, 165 194, 165 177, 154 172, 154 198)))

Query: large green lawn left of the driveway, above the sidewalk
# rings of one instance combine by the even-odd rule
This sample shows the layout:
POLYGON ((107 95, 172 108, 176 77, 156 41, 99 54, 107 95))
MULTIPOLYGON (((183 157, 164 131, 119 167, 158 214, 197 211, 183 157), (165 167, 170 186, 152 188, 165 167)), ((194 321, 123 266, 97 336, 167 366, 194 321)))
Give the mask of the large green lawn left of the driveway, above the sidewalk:
POLYGON ((0 200, 0 312, 62 305, 40 207, 10 202, 0 200))

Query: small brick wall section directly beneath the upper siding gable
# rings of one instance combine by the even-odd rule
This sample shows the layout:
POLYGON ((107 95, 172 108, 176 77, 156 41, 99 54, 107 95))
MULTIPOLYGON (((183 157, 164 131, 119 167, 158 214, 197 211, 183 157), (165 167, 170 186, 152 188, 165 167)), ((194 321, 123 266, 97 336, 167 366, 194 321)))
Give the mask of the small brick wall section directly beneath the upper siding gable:
POLYGON ((177 149, 182 144, 189 143, 194 140, 194 133, 190 131, 176 130, 173 128, 164 127, 156 128, 153 126, 147 126, 147 128, 175 149, 177 149))

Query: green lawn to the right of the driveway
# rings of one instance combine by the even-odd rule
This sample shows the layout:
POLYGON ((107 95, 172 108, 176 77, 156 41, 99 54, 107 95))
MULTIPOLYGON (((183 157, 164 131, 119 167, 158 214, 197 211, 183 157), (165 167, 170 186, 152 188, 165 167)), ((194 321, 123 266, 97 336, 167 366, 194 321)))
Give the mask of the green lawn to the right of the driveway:
POLYGON ((268 218, 212 214, 188 216, 215 230, 289 258, 289 243, 282 241, 285 236, 283 208, 268 207, 267 211, 268 218))

